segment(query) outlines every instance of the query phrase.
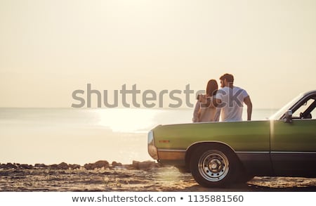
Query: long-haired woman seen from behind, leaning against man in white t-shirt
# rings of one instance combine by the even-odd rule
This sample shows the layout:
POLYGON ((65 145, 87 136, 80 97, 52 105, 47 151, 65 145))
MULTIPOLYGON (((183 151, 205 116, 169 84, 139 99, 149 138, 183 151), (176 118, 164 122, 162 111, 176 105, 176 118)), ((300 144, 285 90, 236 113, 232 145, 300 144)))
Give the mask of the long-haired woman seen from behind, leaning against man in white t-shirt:
POLYGON ((193 122, 218 122, 220 108, 213 105, 213 96, 216 95, 218 84, 215 79, 209 80, 206 86, 206 94, 199 95, 193 112, 193 122))

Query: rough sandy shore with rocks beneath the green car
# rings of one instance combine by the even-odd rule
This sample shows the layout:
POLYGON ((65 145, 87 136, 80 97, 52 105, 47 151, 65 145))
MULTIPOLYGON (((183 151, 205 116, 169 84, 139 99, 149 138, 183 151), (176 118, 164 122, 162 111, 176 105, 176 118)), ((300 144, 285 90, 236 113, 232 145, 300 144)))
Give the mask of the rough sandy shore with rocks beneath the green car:
POLYGON ((190 173, 155 162, 133 161, 131 165, 98 161, 68 165, 0 165, 0 191, 316 191, 316 179, 254 177, 246 184, 228 188, 204 188, 190 173))

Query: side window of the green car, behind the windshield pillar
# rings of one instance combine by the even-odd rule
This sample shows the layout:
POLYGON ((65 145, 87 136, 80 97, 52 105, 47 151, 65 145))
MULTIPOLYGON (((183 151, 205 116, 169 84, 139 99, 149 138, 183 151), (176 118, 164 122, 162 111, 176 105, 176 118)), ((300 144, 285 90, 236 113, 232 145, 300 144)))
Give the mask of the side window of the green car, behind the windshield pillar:
POLYGON ((295 119, 316 119, 315 99, 305 101, 292 115, 295 119))

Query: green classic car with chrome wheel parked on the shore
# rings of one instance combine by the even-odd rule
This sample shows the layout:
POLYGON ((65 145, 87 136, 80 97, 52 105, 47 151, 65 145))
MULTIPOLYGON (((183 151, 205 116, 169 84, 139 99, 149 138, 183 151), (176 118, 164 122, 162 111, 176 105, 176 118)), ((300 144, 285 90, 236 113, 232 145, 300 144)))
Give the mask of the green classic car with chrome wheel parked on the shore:
POLYGON ((254 176, 316 177, 316 90, 300 94, 269 120, 159 125, 148 153, 222 187, 254 176))

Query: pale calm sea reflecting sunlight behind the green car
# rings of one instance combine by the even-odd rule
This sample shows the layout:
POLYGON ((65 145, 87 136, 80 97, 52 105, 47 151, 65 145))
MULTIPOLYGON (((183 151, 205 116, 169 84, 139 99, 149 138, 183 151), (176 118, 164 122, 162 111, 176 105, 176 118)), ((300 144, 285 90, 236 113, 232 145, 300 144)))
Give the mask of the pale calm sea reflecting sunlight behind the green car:
MULTIPOLYGON (((147 132, 158 124, 192 122, 193 109, 0 108, 0 163, 152 160, 147 132)), ((276 110, 253 110, 265 120, 276 110)), ((244 110, 244 120, 246 111, 244 110)))

